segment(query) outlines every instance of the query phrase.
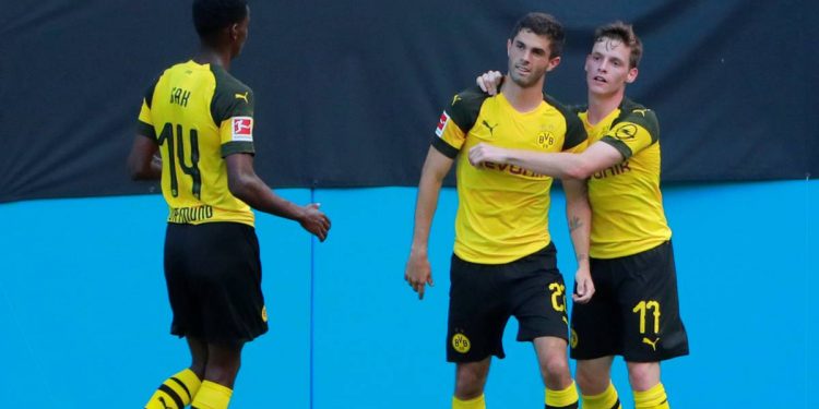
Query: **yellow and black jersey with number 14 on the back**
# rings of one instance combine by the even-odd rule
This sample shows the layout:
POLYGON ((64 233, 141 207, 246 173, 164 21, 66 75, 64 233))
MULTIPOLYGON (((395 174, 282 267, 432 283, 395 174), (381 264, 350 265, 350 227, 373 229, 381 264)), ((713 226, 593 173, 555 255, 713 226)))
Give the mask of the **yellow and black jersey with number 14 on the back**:
POLYGON ((222 67, 167 69, 142 103, 139 132, 159 145, 168 222, 236 221, 253 212, 227 188, 224 157, 253 153, 253 92, 222 67))

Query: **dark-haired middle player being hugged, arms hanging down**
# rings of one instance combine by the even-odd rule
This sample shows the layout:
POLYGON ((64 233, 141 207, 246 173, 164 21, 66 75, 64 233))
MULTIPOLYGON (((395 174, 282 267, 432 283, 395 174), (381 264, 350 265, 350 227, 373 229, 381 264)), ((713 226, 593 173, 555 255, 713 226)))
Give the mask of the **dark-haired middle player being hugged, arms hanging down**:
MULTIPOLYGON (((560 62, 562 26, 530 13, 507 40, 508 81, 488 97, 477 87, 456 94, 440 118, 424 164, 415 228, 404 278, 424 297, 432 276, 429 228, 441 182, 458 160, 459 208, 451 264, 447 360, 455 362, 452 408, 485 408, 491 356, 503 358, 502 333, 514 315, 519 341, 531 341, 546 386, 546 408, 577 408, 569 373, 566 287, 548 230, 553 179, 520 166, 470 166, 466 153, 480 142, 537 152, 581 149, 586 133, 570 110, 544 95, 546 73, 560 62), (460 153, 460 156, 459 156, 460 153)), ((578 302, 594 291, 589 273, 591 210, 582 180, 563 180, 567 217, 578 256, 578 302)))

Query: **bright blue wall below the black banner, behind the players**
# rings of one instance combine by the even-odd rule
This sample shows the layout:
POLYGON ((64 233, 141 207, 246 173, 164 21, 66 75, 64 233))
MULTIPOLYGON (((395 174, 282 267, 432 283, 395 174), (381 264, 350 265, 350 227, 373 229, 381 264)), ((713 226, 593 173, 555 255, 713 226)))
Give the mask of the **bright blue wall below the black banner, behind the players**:
MULTIPOLYGON (((819 364, 819 182, 672 185, 681 312, 691 356, 664 363, 675 408, 807 408, 819 364)), ((454 191, 430 242, 436 287, 418 301, 403 281, 415 189, 282 190, 332 217, 324 243, 258 216, 271 332, 246 348, 232 407, 446 408, 444 363, 454 191)), ((561 269, 573 257, 563 199, 551 230, 561 269)), ((159 196, 0 205, 0 396, 5 407, 140 407, 187 365, 167 335, 159 196), (34 399, 34 400, 32 400, 34 399)), ((490 408, 542 407, 530 345, 507 329, 490 408)), ((615 383, 631 408, 622 363, 615 383)))

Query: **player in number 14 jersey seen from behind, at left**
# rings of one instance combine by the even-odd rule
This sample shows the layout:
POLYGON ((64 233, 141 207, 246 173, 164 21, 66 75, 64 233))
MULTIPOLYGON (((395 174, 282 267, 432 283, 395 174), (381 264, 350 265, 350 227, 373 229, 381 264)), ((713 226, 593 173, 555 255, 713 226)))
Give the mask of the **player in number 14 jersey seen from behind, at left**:
POLYGON ((318 204, 277 196, 253 170, 253 92, 228 73, 249 13, 246 0, 194 0, 199 52, 165 70, 142 103, 128 165, 134 179, 162 179, 170 333, 192 358, 147 409, 227 408, 242 346, 268 330, 250 207, 297 220, 321 241, 330 229, 318 204))

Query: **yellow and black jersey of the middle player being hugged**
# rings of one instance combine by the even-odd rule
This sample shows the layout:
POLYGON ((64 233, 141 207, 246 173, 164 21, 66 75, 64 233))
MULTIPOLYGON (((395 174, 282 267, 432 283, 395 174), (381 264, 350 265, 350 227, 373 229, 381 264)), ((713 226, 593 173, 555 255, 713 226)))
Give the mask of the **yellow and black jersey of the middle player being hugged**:
POLYGON ((502 94, 488 96, 475 87, 452 98, 436 134, 432 146, 458 157, 454 252, 459 257, 503 264, 551 242, 551 178, 509 165, 486 164, 478 169, 470 165, 467 152, 480 142, 536 152, 580 151, 586 133, 571 110, 545 96, 536 109, 522 113, 502 94))

